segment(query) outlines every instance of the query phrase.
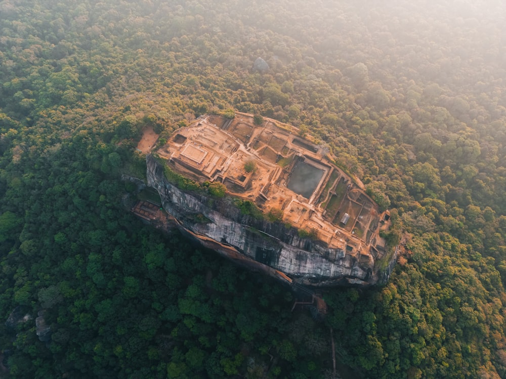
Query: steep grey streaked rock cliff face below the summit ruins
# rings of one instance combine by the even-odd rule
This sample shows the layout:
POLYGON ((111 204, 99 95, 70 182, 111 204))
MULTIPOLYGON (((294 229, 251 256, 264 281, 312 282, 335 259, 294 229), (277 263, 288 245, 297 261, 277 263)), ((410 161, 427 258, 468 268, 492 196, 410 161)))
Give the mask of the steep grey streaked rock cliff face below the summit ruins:
POLYGON ((301 238, 282 222, 245 215, 231 197, 183 192, 168 182, 162 164, 147 156, 148 186, 155 188, 163 208, 179 229, 205 247, 251 269, 290 283, 312 286, 368 286, 388 279, 395 254, 382 271, 372 254, 353 256, 320 241, 301 238))

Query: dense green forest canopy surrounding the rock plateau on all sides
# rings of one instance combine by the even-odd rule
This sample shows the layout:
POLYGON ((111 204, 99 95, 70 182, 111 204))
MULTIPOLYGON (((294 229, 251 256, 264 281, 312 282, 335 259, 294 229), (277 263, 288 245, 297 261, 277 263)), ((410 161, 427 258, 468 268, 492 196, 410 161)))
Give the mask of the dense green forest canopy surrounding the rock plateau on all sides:
POLYGON ((332 377, 329 326, 356 377, 506 376, 503 2, 0 14, 0 320, 28 315, 0 322, 10 377, 332 377), (388 285, 325 291, 316 324, 278 283, 123 210, 144 126, 231 109, 299 126, 390 201, 406 256, 388 285))

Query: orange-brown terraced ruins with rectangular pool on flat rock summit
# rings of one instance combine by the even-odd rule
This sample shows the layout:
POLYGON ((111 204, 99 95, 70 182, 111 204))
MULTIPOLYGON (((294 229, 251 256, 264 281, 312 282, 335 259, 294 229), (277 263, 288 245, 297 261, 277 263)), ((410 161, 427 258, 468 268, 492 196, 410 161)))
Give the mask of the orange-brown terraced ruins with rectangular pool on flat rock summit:
POLYGON ((316 233, 329 248, 367 259, 385 254, 379 230, 388 213, 298 129, 236 112, 205 115, 178 129, 156 151, 172 170, 198 182, 221 182, 231 195, 276 211, 287 226, 316 233))

